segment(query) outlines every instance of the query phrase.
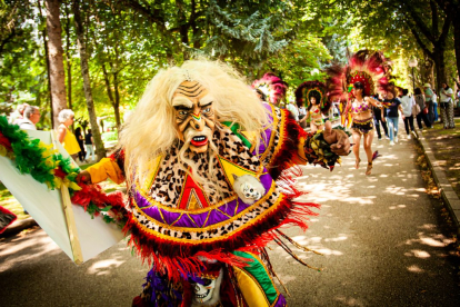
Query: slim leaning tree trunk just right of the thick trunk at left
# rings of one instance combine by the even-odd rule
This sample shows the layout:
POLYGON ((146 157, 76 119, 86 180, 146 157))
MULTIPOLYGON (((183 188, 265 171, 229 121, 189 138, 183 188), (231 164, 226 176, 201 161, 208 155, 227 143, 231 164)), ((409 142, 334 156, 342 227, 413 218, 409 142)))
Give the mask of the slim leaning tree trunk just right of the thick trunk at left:
POLYGON ((91 93, 91 82, 89 77, 89 67, 87 58, 87 48, 84 46, 84 30, 80 17, 80 1, 73 0, 72 3, 73 19, 76 22, 77 30, 77 42, 80 51, 80 65, 81 65, 81 75, 83 77, 83 89, 84 98, 87 100, 88 113, 90 118, 90 125, 92 130, 92 137, 96 143, 96 154, 98 155, 98 160, 106 158, 106 149, 103 147, 101 133, 99 131, 98 120, 96 117, 94 101, 92 100, 91 93))

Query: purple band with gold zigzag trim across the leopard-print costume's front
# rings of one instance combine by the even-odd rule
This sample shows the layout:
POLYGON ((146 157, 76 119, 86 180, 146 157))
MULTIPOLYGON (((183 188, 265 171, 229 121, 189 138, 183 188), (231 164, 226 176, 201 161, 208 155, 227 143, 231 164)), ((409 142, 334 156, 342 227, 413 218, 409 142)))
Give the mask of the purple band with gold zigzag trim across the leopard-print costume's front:
MULTIPOLYGON (((267 169, 263 169, 263 172, 267 172, 267 169)), ((269 191, 271 188, 271 184, 273 179, 271 179, 269 174, 264 174, 260 176, 260 182, 266 188, 266 191, 269 191)), ((187 227, 187 228, 201 228, 203 226, 212 226, 222 221, 230 219, 230 217, 234 217, 236 215, 240 214, 242 210, 249 208, 251 205, 247 205, 242 202, 240 198, 237 200, 231 200, 222 206, 219 206, 219 210, 209 210, 202 214, 192 214, 192 211, 183 210, 183 212, 172 212, 168 211, 167 209, 159 209, 158 207, 149 207, 150 202, 141 196, 139 191, 136 191, 134 200, 138 204, 138 207, 149 217, 152 219, 161 222, 171 225, 176 220, 174 227, 187 227), (238 204, 238 208, 237 208, 238 204), (142 209, 144 207, 149 207, 142 209), (160 210, 162 216, 164 217, 164 221, 161 218, 160 210), (237 211, 237 212, 236 212, 237 211), (182 214, 182 216, 181 216, 182 214), (208 218, 209 214, 209 218, 208 218), (180 217, 180 218, 179 218, 180 217), (179 220, 178 220, 179 218, 179 220), (208 220, 208 221, 207 221, 208 220), (206 225, 203 225, 206 222, 206 225)))

